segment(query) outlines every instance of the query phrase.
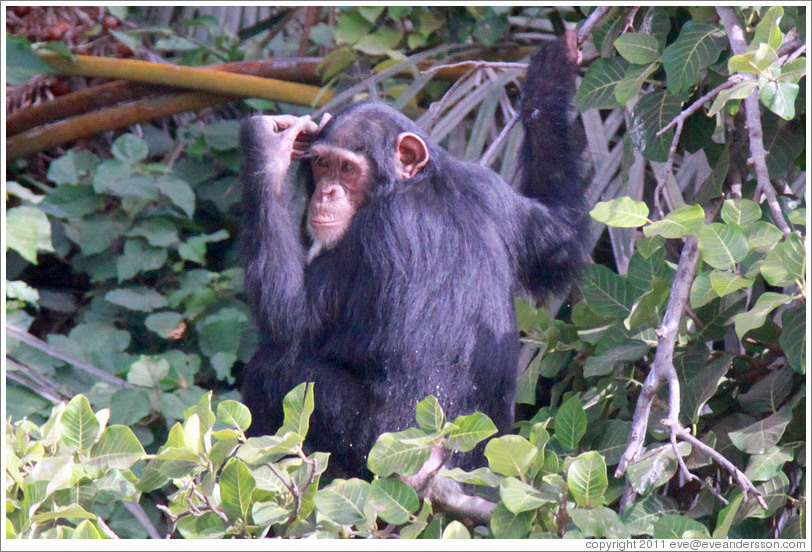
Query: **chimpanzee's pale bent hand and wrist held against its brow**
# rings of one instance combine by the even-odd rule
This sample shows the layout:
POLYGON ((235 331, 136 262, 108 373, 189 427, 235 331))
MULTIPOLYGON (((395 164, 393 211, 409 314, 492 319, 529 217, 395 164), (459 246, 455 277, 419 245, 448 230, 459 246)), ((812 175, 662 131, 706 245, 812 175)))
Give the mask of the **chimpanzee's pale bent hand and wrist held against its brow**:
POLYGON ((240 132, 246 174, 260 177, 280 193, 291 161, 307 152, 329 120, 329 114, 318 125, 309 115, 258 115, 247 119, 240 132))

